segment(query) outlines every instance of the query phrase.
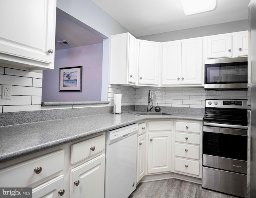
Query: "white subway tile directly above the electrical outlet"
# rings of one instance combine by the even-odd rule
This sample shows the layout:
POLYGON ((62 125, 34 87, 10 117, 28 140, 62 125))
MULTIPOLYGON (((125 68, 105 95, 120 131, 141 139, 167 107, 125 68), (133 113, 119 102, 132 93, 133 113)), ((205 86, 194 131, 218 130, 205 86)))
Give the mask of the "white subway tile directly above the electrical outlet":
POLYGON ((0 74, 0 84, 32 87, 32 78, 0 74))

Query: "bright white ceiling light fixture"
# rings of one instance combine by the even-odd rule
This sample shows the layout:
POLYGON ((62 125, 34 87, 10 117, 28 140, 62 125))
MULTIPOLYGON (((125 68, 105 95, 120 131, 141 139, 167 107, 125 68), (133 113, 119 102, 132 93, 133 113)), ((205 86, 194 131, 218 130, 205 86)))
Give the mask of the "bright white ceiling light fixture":
POLYGON ((216 0, 181 0, 186 15, 198 14, 213 10, 216 7, 216 0))

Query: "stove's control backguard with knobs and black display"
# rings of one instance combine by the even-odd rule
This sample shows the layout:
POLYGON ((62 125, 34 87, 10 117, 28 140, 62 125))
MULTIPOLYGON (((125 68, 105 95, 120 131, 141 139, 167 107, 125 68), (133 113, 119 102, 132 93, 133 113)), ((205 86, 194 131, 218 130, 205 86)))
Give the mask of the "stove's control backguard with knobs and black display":
POLYGON ((232 99, 210 99, 205 100, 205 107, 214 108, 236 108, 236 109, 250 109, 247 105, 247 100, 232 100, 232 99))

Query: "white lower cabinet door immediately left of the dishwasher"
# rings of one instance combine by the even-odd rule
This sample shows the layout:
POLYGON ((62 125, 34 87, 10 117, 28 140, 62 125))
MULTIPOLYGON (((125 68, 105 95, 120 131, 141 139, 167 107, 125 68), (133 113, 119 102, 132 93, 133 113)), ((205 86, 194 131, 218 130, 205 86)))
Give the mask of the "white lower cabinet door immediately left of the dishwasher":
POLYGON ((104 198, 105 155, 70 170, 70 198, 104 198))

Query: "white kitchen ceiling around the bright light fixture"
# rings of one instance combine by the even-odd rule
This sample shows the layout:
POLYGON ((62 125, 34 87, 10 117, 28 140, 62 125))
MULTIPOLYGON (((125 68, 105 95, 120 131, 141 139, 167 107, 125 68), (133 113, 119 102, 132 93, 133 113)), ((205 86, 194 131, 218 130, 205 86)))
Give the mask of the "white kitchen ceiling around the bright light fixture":
POLYGON ((209 12, 186 16, 180 0, 92 0, 135 37, 248 18, 250 0, 217 0, 209 12))

